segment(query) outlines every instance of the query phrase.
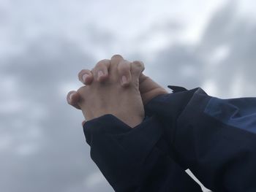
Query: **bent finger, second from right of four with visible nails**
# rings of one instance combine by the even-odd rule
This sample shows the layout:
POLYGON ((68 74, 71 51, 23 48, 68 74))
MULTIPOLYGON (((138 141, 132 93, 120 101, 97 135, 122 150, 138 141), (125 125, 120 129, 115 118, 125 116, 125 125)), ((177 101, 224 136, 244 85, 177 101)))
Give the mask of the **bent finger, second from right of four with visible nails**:
POLYGON ((104 59, 102 61, 99 61, 94 69, 92 69, 95 80, 97 80, 98 82, 104 82, 105 80, 107 80, 109 67, 110 60, 104 59))

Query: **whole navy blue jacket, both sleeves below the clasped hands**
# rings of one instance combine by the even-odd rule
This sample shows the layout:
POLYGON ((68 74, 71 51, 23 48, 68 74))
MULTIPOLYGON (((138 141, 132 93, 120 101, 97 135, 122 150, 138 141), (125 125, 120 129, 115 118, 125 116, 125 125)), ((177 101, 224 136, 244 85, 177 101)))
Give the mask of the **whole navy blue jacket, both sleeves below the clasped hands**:
POLYGON ((256 191, 256 98, 201 88, 157 96, 135 128, 113 115, 85 123, 91 158, 115 191, 256 191))

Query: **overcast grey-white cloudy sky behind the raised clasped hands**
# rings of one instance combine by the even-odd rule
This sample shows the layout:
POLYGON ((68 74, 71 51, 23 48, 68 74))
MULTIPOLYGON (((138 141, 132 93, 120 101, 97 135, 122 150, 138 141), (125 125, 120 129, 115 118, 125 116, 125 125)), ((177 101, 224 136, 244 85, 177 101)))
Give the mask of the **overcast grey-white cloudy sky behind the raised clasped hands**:
POLYGON ((0 0, 0 191, 113 191, 66 103, 119 53, 163 86, 256 95, 254 0, 0 0))

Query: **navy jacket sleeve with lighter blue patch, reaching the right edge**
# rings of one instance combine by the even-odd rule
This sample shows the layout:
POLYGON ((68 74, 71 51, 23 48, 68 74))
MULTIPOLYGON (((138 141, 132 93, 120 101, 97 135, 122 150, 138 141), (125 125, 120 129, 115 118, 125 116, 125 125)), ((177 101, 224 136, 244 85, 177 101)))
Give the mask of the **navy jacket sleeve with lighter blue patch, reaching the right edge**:
POLYGON ((256 98, 181 90, 152 99, 146 114, 159 120, 169 155, 207 188, 256 191, 256 98))

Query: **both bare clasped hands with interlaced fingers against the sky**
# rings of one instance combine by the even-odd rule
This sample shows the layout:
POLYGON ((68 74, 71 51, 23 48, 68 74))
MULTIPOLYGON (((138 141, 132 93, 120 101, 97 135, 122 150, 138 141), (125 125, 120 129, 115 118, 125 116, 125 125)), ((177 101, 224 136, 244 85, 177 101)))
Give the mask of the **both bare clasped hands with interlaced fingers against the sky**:
POLYGON ((131 127, 138 125, 144 115, 140 101, 145 105, 155 96, 167 93, 142 74, 143 69, 141 61, 129 62, 121 55, 113 55, 111 60, 99 61, 91 71, 83 69, 78 78, 90 86, 70 91, 67 101, 82 110, 86 120, 113 114, 131 127))

